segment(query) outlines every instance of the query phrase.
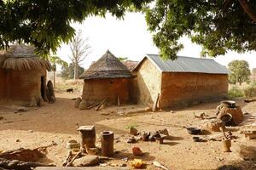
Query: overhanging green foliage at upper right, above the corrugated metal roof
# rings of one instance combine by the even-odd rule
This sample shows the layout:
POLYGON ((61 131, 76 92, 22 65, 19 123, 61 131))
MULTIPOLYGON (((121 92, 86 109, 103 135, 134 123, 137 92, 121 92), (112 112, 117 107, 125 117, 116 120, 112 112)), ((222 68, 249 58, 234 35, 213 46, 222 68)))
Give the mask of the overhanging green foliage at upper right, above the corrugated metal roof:
POLYGON ((255 1, 156 0, 145 11, 148 29, 164 58, 176 58, 183 36, 200 44, 202 55, 256 49, 255 1))

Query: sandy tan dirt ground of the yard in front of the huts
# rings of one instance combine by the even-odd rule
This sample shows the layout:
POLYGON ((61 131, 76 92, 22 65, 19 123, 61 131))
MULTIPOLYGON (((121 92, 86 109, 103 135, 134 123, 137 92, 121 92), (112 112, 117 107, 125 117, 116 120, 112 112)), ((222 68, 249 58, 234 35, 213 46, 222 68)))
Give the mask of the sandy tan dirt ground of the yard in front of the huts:
MULTIPOLYGON (((177 111, 160 111, 156 113, 137 113, 132 115, 119 115, 118 112, 132 111, 142 105, 125 105, 120 107, 109 107, 102 111, 84 110, 80 111, 73 107, 73 98, 79 94, 56 94, 55 104, 45 104, 43 107, 29 111, 15 113, 15 105, 0 105, 0 151, 14 150, 20 147, 37 148, 49 145, 54 141, 57 145, 48 148, 46 163, 61 166, 65 160, 68 150, 65 148, 69 139, 78 139, 77 127, 81 125, 95 125, 97 136, 103 130, 111 130, 115 136, 114 149, 117 153, 113 156, 114 164, 122 163, 130 166, 133 158, 141 158, 147 163, 147 169, 159 169, 152 165, 152 161, 159 161, 169 169, 216 169, 227 164, 247 164, 241 161, 236 154, 236 144, 256 144, 256 140, 244 139, 240 133, 233 134, 238 137, 232 142, 232 152, 222 151, 221 141, 207 141, 195 143, 190 134, 183 128, 187 126, 201 126, 205 120, 195 118, 195 114, 201 112, 214 115, 218 102, 201 104, 177 111), (128 144, 126 141, 131 137, 127 127, 134 126, 142 131, 155 131, 167 128, 172 136, 171 140, 165 140, 164 144, 156 142, 143 142, 128 144), (143 149, 143 156, 133 156, 131 148, 139 146, 143 149), (233 147, 234 146, 234 147, 233 147), (122 161, 128 157, 129 161, 122 161)), ((236 100, 242 111, 248 112, 247 121, 244 124, 255 123, 256 102, 246 104, 242 99, 236 100)), ((214 133, 215 134, 215 133, 214 133)), ((201 138, 205 138, 201 135, 201 138)), ((96 139, 100 144, 100 139, 96 139)), ((255 162, 250 162, 256 169, 255 162)))

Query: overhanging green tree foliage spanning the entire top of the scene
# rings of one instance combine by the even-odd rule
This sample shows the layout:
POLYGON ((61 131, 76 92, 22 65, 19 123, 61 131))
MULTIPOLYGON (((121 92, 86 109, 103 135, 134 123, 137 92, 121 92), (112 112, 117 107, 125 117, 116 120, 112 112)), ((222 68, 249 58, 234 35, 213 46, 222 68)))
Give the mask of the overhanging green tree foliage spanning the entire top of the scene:
POLYGON ((127 10, 144 11, 160 55, 175 59, 180 37, 202 45, 202 55, 256 49, 256 3, 253 0, 0 0, 0 48, 9 42, 32 43, 49 54, 75 34, 71 22, 92 15, 117 18, 127 10), (146 7, 148 5, 148 7, 146 7))

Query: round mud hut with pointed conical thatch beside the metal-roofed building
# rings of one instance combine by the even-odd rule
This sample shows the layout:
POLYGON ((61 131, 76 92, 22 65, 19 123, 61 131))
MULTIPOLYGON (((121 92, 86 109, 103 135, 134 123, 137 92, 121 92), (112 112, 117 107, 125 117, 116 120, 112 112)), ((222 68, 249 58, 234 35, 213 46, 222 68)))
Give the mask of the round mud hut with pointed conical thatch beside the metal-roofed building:
POLYGON ((127 103, 131 71, 109 51, 79 77, 84 79, 82 99, 89 105, 107 100, 108 105, 127 103))

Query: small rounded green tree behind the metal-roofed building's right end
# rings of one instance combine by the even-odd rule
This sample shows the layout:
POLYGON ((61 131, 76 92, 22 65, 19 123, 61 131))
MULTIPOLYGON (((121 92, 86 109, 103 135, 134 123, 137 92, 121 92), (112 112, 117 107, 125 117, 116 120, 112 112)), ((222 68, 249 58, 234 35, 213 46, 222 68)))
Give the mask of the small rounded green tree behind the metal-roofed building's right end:
POLYGON ((229 63, 229 69, 231 74, 229 75, 229 80, 231 83, 239 82, 249 82, 251 71, 249 69, 249 64, 245 60, 233 60, 229 63))

